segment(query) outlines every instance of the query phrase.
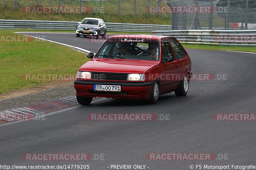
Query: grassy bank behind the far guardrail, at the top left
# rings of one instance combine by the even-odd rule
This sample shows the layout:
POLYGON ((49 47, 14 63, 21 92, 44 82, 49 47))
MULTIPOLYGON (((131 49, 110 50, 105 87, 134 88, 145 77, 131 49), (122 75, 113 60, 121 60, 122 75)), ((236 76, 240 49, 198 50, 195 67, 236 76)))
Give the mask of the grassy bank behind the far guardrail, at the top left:
MULTIPOLYGON (((14 1, 0 1, 0 14, 1 19, 25 19, 25 20, 53 20, 53 21, 81 21, 85 17, 102 18, 105 22, 114 23, 134 23, 134 24, 161 24, 171 25, 172 14, 153 14, 148 13, 146 8, 148 6, 148 0, 136 1, 136 15, 134 15, 134 1, 122 0, 120 6, 120 14, 118 14, 118 0, 109 0, 101 3, 103 13, 94 12, 95 8, 100 7, 100 3, 97 2, 84 2, 82 6, 89 6, 92 9, 90 13, 75 13, 75 14, 63 14, 63 13, 26 13, 22 11, 22 7, 36 6, 36 0, 18 0, 17 9, 14 11, 14 1), (104 5, 105 4, 105 5, 104 5)), ((65 1, 65 4, 61 6, 80 6, 79 1, 65 1)), ((156 6, 158 0, 150 0, 150 6, 156 6)), ((61 1, 63 3, 63 1, 61 1)), ((160 2, 160 6, 166 6, 165 2, 160 2)), ((59 1, 52 0, 40 0, 39 6, 59 6, 59 1)))

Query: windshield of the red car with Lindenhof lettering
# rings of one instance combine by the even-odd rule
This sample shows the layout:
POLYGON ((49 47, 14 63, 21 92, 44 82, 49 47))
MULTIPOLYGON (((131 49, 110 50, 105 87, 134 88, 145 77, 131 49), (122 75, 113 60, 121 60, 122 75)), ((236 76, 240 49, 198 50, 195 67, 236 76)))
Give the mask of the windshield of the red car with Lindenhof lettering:
POLYGON ((159 41, 143 38, 109 38, 95 58, 159 60, 159 41))

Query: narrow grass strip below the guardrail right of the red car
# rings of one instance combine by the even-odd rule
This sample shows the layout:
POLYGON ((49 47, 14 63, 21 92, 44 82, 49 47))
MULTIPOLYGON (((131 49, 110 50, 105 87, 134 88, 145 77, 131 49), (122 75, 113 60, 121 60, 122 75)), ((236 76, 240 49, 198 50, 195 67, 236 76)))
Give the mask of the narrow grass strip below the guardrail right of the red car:
POLYGON ((249 46, 229 46, 229 45, 203 45, 203 44, 187 44, 181 43, 184 48, 201 49, 201 50, 218 50, 218 51, 244 51, 256 53, 256 47, 249 46))

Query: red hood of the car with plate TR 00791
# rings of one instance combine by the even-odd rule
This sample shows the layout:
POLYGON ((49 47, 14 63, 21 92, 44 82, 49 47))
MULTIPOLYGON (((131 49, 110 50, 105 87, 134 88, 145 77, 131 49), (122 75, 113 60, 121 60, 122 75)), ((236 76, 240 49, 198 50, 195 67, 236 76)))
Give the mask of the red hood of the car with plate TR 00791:
POLYGON ((82 65, 79 71, 143 73, 155 64, 156 61, 145 60, 92 59, 82 65))

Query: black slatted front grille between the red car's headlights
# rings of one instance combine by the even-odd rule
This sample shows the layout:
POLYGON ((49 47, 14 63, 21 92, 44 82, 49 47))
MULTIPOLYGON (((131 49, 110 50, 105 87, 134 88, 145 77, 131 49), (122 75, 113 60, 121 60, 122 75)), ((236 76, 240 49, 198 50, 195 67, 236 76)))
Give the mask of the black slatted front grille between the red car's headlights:
POLYGON ((116 80, 116 81, 127 81, 126 73, 102 73, 92 72, 93 80, 116 80))

